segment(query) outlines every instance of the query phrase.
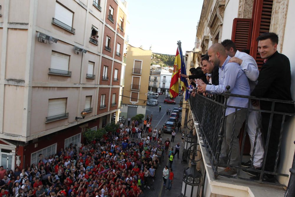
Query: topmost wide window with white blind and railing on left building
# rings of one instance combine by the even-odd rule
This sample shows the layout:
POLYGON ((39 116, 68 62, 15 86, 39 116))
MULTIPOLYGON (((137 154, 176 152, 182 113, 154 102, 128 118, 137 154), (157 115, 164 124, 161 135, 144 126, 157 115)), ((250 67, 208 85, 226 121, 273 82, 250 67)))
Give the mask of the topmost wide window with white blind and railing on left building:
POLYGON ((52 22, 55 25, 58 25, 72 33, 75 33, 75 29, 72 28, 73 14, 73 12, 71 12, 58 2, 55 2, 55 14, 52 22))

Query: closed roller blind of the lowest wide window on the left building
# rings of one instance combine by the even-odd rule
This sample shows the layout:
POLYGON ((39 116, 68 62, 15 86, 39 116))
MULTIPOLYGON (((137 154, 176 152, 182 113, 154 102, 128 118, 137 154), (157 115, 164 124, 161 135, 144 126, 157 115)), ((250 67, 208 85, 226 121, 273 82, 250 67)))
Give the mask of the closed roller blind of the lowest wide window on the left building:
POLYGON ((47 117, 65 113, 66 104, 67 104, 66 98, 49 99, 47 117))

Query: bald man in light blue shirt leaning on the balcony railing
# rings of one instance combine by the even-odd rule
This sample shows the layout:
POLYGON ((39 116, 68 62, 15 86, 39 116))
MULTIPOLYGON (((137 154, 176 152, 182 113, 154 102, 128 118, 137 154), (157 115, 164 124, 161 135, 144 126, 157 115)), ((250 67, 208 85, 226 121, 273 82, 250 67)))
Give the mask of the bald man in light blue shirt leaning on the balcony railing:
MULTIPOLYGON (((199 84, 198 90, 200 92, 208 92, 210 94, 222 94, 226 91, 226 86, 230 86, 230 92, 238 95, 250 95, 250 86, 248 78, 245 73, 240 69, 240 65, 235 62, 230 62, 230 56, 225 53, 224 47, 216 43, 208 50, 209 61, 214 66, 219 66, 219 85, 206 85, 201 80, 197 80, 199 84)), ((235 107, 248 107, 248 99, 239 97, 229 97, 227 105, 235 107)), ((226 119, 224 125, 223 142, 221 146, 220 163, 227 164, 228 154, 230 152, 230 142, 232 138, 232 128, 234 126, 235 108, 227 107, 226 119)), ((240 146, 238 135, 243 122, 246 119, 246 110, 237 110, 235 119, 235 131, 232 140, 232 152, 230 156, 230 165, 238 165, 240 160, 240 146)), ((219 172, 220 177, 236 176, 237 170, 235 168, 227 167, 219 172)))

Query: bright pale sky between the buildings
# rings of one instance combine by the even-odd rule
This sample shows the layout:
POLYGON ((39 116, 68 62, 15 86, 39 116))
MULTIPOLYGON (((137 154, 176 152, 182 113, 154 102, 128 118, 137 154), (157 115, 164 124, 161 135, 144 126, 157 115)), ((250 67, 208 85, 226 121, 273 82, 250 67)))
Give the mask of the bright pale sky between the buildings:
POLYGON ((177 41, 183 53, 194 48, 196 25, 203 0, 126 0, 129 44, 153 53, 175 55, 177 41))

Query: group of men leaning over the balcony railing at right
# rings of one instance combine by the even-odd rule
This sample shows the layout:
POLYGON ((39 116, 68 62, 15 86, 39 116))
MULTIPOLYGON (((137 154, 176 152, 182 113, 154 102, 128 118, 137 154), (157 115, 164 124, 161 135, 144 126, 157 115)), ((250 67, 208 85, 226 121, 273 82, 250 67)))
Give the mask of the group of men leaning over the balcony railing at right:
MULTIPOLYGON (((275 33, 266 32, 257 38, 258 53, 264 64, 259 71, 255 59, 249 55, 249 50, 239 51, 232 40, 223 40, 222 43, 213 44, 207 51, 207 54, 201 56, 201 68, 191 68, 192 75, 181 76, 188 78, 190 83, 189 94, 207 96, 222 94, 230 86, 230 93, 245 96, 255 96, 258 98, 270 98, 277 100, 292 100, 291 98, 291 70, 289 59, 277 51, 278 36, 275 33), (283 77, 282 77, 283 76, 283 77)), ((235 112, 235 108, 227 107, 225 112, 225 127, 223 142, 220 154, 220 163, 228 164, 230 147, 231 167, 222 168, 219 172, 221 177, 236 176, 240 162, 239 133, 242 124, 246 120, 248 99, 242 97, 229 97, 227 105, 240 107, 235 112), (233 130, 233 127, 235 129, 233 130), (232 137, 233 135, 233 137, 232 137)), ((271 102, 265 100, 251 100, 251 108, 255 110, 271 111, 271 102)), ((276 103, 275 111, 294 113, 294 105, 276 103)), ((208 117, 209 118, 209 117, 208 117)), ((281 126, 283 125, 283 115, 270 113, 261 113, 261 129, 259 129, 259 111, 250 110, 248 113, 247 133, 250 138, 253 161, 242 163, 242 167, 249 168, 243 170, 252 175, 250 179, 259 180, 260 172, 264 159, 264 151, 270 132, 268 148, 265 161, 265 171, 275 172, 276 158, 279 154, 279 140, 281 126), (272 123, 270 123, 272 121, 272 123), (270 131, 268 131, 271 125, 270 131), (253 146, 256 143, 253 153, 253 146)), ((252 157, 251 157, 252 158, 252 157)), ((279 161, 278 161, 279 163, 279 161)), ((277 164, 278 164, 277 163, 277 164)), ((211 167, 211 164, 207 164, 211 167)), ((274 175, 265 173, 264 181, 274 182, 274 175)))

